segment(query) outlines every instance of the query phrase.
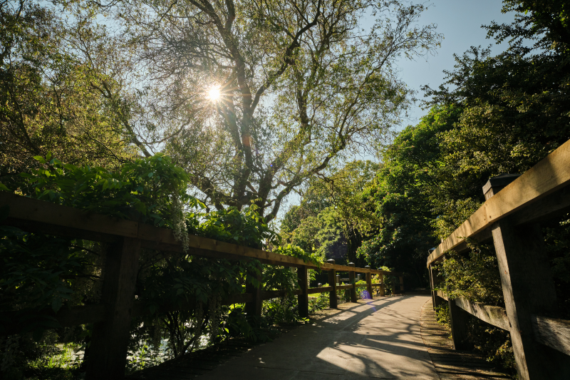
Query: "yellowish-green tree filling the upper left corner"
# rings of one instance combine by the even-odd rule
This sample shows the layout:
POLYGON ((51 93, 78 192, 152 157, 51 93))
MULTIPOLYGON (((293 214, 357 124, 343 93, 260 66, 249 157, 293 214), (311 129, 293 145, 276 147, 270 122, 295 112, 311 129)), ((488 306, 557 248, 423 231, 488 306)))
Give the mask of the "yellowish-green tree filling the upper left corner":
POLYGON ((105 28, 86 6, 0 3, 0 174, 52 152, 68 163, 117 166, 136 153, 132 103, 105 28), (71 21, 69 21, 71 20, 71 21))

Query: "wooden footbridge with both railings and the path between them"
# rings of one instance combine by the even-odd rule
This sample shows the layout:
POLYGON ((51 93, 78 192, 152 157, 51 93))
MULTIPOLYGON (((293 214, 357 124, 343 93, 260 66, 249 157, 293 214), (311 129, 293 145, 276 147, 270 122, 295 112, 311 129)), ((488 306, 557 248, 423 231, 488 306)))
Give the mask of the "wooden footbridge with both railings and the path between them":
MULTIPOLYGON (((556 319, 554 284, 542 247, 544 240, 537 225, 570 210, 570 142, 507 185, 513 178, 489 180, 485 186, 487 202, 447 237, 427 262, 433 289, 438 277, 432 265, 445 260, 447 251, 465 252, 467 237, 479 242, 492 240, 497 250, 507 307, 501 309, 474 304, 465 299, 450 300, 442 292, 435 291, 431 294, 432 305, 448 302, 454 349, 462 349, 465 318, 472 314, 510 332, 520 379, 570 379, 570 322, 556 319)), ((86 379, 123 379, 130 320, 150 314, 150 309, 134 297, 140 250, 182 253, 180 242, 171 230, 105 215, 87 215, 72 207, 18 195, 0 193, 0 206, 4 205, 9 206, 9 217, 2 222, 4 225, 109 243, 102 302, 61 309, 51 315, 63 327, 94 324, 86 379)), ((249 356, 243 356, 239 365, 233 363, 231 369, 219 366, 210 374, 204 374, 204 379, 222 376, 249 379, 252 374, 266 379, 320 379, 323 376, 331 379, 437 379, 447 375, 462 376, 457 365, 451 366, 454 370, 442 370, 457 361, 457 356, 445 359, 449 349, 432 348, 432 351, 440 352, 437 355, 442 355, 436 357, 430 354, 430 344, 424 344, 432 342, 430 336, 438 334, 434 333, 433 327, 425 329, 425 339, 422 340, 420 315, 429 296, 400 294, 383 297, 385 284, 373 284, 371 281, 372 274, 381 274, 381 278, 385 274, 396 275, 400 281, 395 288, 403 293, 401 273, 326 262, 319 269, 328 272, 331 286, 309 288, 307 270, 317 268, 311 262, 193 235, 189 235, 188 240, 191 255, 255 259, 268 265, 296 267, 301 284, 296 294, 302 317, 309 314, 309 294, 329 292, 331 302, 329 312, 332 314, 314 317, 311 324, 289 332, 272 344, 252 349, 249 356), (338 285, 337 272, 348 273, 350 284, 338 285), (366 284, 356 284, 356 273, 365 274, 366 284), (368 294, 373 294, 373 288, 378 287, 380 298, 358 301, 356 292, 359 286, 366 287, 368 294), (350 291, 351 303, 337 304, 337 292, 341 289, 350 291)), ((259 315, 263 299, 284 294, 284 290, 263 292, 261 287, 249 284, 245 293, 224 299, 224 304, 245 303, 248 314, 259 315)), ((10 319, 11 315, 3 317, 10 319)), ((13 320, 7 329, 17 331, 18 322, 13 320)), ((460 357, 467 356, 472 357, 472 354, 463 353, 460 357)), ((190 370, 176 373, 182 377, 167 378, 195 376, 190 370)), ((479 369, 475 372, 465 370, 464 374, 475 376, 472 378, 498 376, 479 369)))

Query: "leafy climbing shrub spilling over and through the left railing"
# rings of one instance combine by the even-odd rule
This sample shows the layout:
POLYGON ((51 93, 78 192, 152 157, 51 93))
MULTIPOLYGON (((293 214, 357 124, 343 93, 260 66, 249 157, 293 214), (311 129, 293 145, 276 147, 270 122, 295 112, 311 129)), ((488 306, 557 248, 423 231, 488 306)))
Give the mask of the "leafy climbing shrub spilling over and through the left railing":
MULTIPOLYGON (((19 183, 12 181, 21 194, 87 213, 167 227, 183 247, 188 233, 249 247, 279 245, 254 205, 241 211, 229 207, 207 212, 202 203, 187 195, 186 173, 165 155, 134 160, 117 170, 78 167, 49 155, 36 160, 41 168, 22 173, 19 183)), ((1 211, 5 218, 9 205, 1 211)), ((26 347, 33 346, 39 357, 61 354, 62 344, 75 349, 83 345, 85 359, 73 367, 81 372, 88 360, 90 326, 62 329, 44 311, 100 302, 105 255, 112 252, 112 245, 23 232, 16 227, 1 227, 1 233, 0 312, 9 314, 2 314, 6 319, 0 328, 1 334, 11 337, 1 342, 2 374, 7 378, 48 376, 45 366, 31 366, 36 362, 32 356, 26 356, 27 362, 16 357, 28 355, 26 347), (9 326, 12 330, 6 331, 9 326), (56 332, 46 332, 50 329, 56 332)), ((287 245, 277 251, 319 262, 299 247, 287 245)), ((142 250, 135 295, 151 314, 133 320, 129 368, 140 369, 232 336, 269 339, 273 324, 299 320, 293 297, 297 286, 296 272, 259 265, 255 260, 212 260, 142 250), (248 272, 261 273, 265 289, 288 289, 290 293, 266 302, 261 319, 245 314, 239 305, 220 304, 229 294, 245 292, 247 282, 259 285, 257 277, 248 272), (172 309, 178 311, 168 311, 172 309)))

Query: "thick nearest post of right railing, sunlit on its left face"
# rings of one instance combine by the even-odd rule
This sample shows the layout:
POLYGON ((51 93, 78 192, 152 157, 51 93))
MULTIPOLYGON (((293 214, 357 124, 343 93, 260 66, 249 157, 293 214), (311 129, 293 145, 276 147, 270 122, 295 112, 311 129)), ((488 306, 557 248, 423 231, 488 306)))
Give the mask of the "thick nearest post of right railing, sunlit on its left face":
MULTIPOLYGON (((496 194, 497 187, 493 178, 489 180, 483 188, 485 198, 496 194)), ((539 344, 532 332, 532 314, 556 314, 557 306, 540 226, 514 227, 505 217, 491 231, 519 379, 568 379, 568 356, 539 344)))

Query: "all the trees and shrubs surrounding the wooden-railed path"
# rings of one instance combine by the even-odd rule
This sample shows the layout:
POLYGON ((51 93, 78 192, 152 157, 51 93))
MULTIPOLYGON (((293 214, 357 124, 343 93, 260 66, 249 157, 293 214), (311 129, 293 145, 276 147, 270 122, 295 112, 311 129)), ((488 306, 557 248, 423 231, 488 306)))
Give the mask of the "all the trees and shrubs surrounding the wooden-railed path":
MULTIPOLYGON (((440 39, 415 26, 425 7, 298 4, 0 3, 0 190, 167 227, 185 249, 190 233, 317 265, 392 268, 426 287, 428 250, 482 205, 482 185, 570 138, 566 1, 504 0, 514 22, 484 28, 507 50, 457 55, 445 83, 425 88, 427 115, 389 142, 410 101, 393 64, 440 39), (367 12, 378 19, 361 33, 367 12), (371 148, 382 163, 348 159, 371 148), (267 221, 291 192, 300 204, 277 234, 267 221)), ((566 317, 569 220, 542 226, 566 317)), ((63 329, 45 312, 100 302, 113 245, 5 225, 0 235, 0 374, 70 379, 84 366, 72 349, 89 358, 91 327, 63 329)), ((437 268, 441 289, 503 305, 493 247, 470 244, 437 268)), ((229 337, 270 339, 275 324, 299 320, 296 272, 190 253, 143 250, 136 297, 150 314, 133 320, 128 371, 229 337), (264 302, 261 319, 221 304, 259 277, 289 291, 264 302)), ((512 371, 508 334, 476 319, 469 329, 512 371)))

